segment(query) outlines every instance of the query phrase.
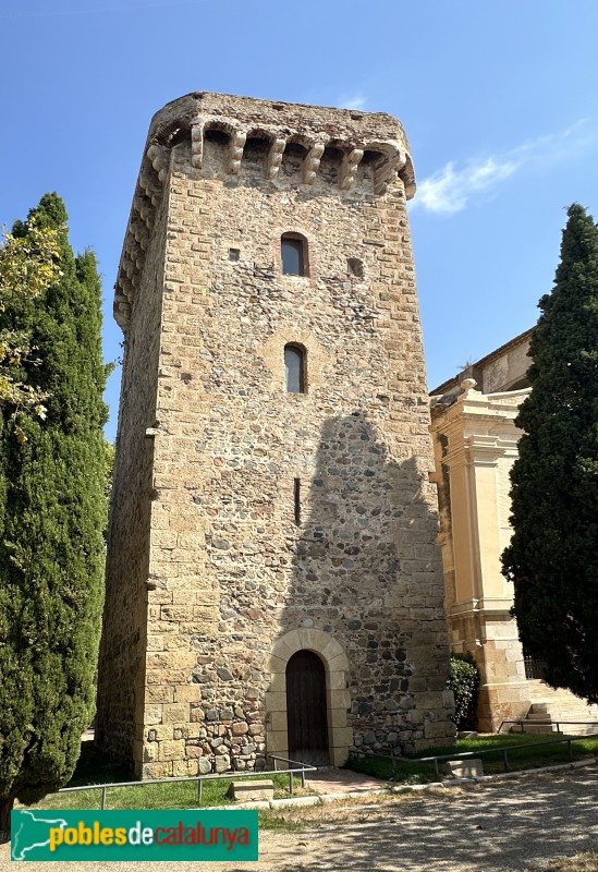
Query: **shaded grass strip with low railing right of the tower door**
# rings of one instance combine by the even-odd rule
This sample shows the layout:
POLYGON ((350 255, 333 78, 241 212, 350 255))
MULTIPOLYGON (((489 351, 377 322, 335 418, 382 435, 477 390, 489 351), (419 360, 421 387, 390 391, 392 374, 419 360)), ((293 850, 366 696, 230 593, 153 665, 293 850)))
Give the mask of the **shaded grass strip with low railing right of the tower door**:
MULTIPOLYGON (((426 748, 417 754, 408 758, 398 758, 395 761, 382 758, 367 756, 353 758, 347 767, 354 772, 363 772, 386 780, 399 782, 402 784, 426 784, 438 780, 432 763, 418 762, 418 758, 436 756, 441 754, 463 753, 471 751, 491 751, 493 748, 509 748, 512 746, 524 746, 508 752, 509 768, 521 771, 549 766, 558 763, 569 762, 569 749, 563 744, 542 746, 542 742, 551 738, 560 738, 557 734, 551 735, 521 735, 508 734, 501 736, 479 736, 475 739, 460 739, 453 747, 438 746, 426 748)), ((576 739, 572 743, 573 759, 578 760, 585 756, 598 754, 598 738, 576 739)), ((502 751, 485 753, 481 755, 484 772, 492 775, 504 772, 504 759, 502 751)))

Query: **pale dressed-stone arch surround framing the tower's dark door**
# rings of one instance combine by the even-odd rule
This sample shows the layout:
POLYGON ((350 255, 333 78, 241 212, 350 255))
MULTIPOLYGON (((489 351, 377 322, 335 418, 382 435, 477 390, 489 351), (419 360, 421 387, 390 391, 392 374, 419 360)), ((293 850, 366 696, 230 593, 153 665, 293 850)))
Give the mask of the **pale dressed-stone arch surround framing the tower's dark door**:
POLYGON ((297 651, 312 651, 326 670, 326 702, 330 762, 342 766, 353 744, 353 730, 347 726, 351 698, 347 690, 349 661, 342 646, 322 630, 298 628, 281 635, 272 645, 268 661, 270 688, 266 693, 266 751, 289 756, 286 713, 286 666, 297 651))

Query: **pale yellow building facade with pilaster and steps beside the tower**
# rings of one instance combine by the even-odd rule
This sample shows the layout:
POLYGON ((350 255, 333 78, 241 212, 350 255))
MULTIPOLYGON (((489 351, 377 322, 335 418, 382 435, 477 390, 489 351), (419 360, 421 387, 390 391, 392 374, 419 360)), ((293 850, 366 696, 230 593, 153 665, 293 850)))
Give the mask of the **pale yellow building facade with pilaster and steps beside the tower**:
MULTIPOLYGON (((476 658, 478 728, 487 732, 508 729, 505 720, 598 716, 598 706, 545 685, 541 664, 524 656, 511 615, 513 586, 501 572, 511 537, 509 472, 521 436, 515 417, 529 392, 530 335, 497 349, 431 397, 449 640, 453 652, 476 658)), ((572 724, 570 731, 582 729, 572 724)))

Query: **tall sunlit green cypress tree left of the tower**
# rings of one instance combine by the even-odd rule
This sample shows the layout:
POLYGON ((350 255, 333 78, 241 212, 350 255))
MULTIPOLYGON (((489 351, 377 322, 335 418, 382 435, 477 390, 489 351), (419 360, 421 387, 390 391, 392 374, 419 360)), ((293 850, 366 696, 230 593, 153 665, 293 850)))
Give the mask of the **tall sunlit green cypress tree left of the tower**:
MULTIPOLYGON (((60 228, 61 276, 23 298, 0 328, 30 338, 39 366, 23 383, 44 391, 46 421, 23 416, 23 438, 0 405, 0 831, 15 799, 64 785, 94 705, 102 603, 106 373, 96 262, 74 257, 62 201, 29 216, 60 228)), ((26 237, 30 223, 19 225, 26 237)))

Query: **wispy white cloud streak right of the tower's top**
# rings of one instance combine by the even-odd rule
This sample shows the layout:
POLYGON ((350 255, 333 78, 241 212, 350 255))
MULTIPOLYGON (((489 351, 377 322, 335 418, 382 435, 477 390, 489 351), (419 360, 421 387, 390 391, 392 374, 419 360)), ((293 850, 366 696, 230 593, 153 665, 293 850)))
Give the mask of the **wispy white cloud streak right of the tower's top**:
POLYGON ((565 131, 538 136, 502 155, 471 160, 461 169, 451 160, 418 184, 413 205, 444 215, 461 211, 476 194, 492 191, 524 167, 533 164, 535 169, 548 169, 593 140, 594 134, 582 120, 565 131))

